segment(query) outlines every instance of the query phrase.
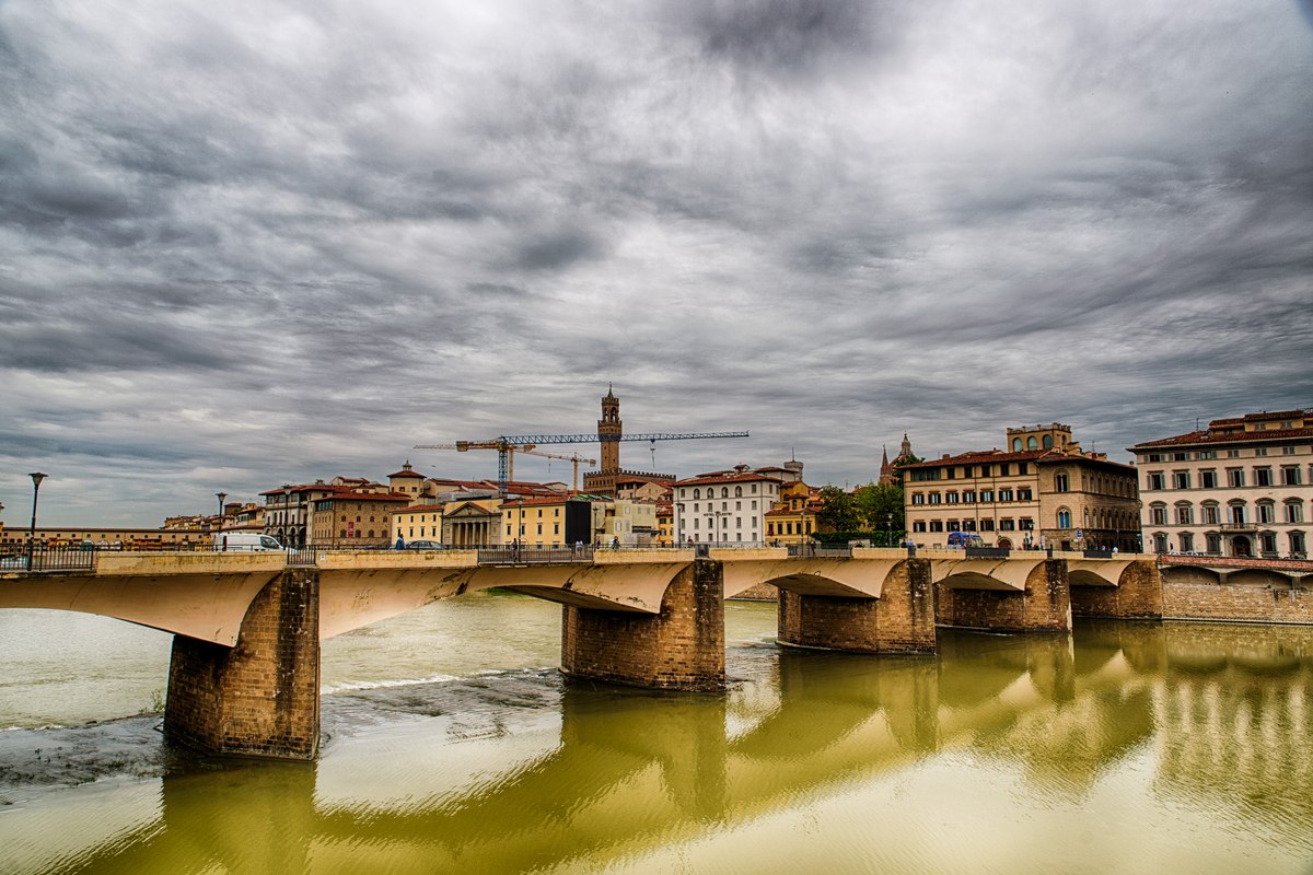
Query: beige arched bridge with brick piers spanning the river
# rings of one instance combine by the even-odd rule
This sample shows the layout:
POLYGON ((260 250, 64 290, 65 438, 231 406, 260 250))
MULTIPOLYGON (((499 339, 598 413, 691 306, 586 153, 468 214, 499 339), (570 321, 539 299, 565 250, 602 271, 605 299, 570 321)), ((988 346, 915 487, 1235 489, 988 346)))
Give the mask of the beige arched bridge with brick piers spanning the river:
POLYGON ((1149 615, 1141 590, 1157 571, 1148 558, 1023 556, 726 548, 697 558, 676 548, 481 563, 477 551, 323 551, 312 565, 289 567, 282 554, 106 552, 83 572, 4 575, 0 607, 173 632, 171 737, 218 753, 314 758, 319 641, 477 589, 559 602, 567 674, 683 690, 723 687, 723 600, 760 584, 780 590, 781 644, 855 653, 934 652, 936 623, 1067 632, 1073 588, 1100 593, 1092 613, 1149 615))

